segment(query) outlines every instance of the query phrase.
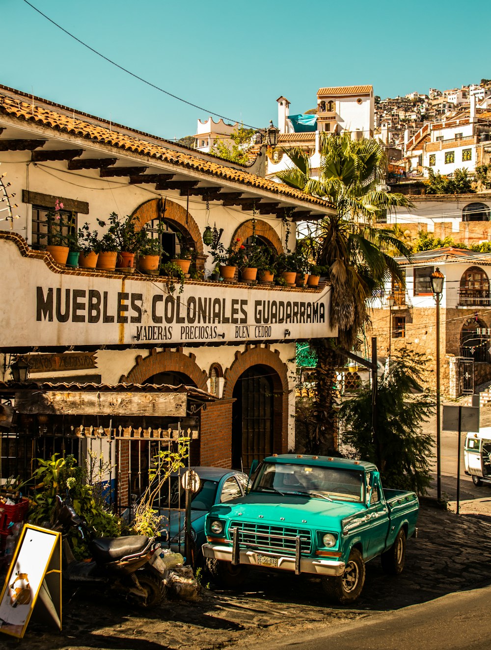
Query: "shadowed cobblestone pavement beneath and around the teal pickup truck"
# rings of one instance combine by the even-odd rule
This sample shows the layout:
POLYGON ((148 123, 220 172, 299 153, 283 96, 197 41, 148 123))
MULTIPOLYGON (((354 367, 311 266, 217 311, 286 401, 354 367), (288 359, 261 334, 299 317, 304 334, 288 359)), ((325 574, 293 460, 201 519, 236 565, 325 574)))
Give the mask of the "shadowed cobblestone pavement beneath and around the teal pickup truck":
POLYGON ((30 623, 23 640, 0 634, 0 649, 157 650, 268 647, 300 630, 325 629, 445 593, 491 584, 491 517, 439 510, 423 500, 419 538, 408 541, 405 571, 382 573, 367 565, 367 580, 356 608, 325 603, 319 580, 304 576, 251 573, 244 593, 206 590, 198 603, 168 601, 146 612, 111 602, 99 592, 79 593, 64 603, 63 630, 30 623))

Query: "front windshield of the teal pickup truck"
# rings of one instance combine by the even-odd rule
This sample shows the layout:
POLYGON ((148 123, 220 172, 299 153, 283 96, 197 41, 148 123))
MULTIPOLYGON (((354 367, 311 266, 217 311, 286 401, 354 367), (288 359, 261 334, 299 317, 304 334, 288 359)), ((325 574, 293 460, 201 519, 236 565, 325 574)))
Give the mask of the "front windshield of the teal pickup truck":
POLYGON ((364 498, 364 472, 312 465, 263 463, 252 491, 308 494, 333 500, 361 502, 364 498))

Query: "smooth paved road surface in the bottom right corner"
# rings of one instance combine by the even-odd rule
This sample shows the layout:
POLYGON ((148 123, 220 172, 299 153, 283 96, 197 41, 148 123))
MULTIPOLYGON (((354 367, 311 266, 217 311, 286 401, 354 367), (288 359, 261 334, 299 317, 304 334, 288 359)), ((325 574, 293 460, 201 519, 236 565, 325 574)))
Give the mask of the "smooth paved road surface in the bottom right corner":
POLYGON ((451 593, 430 603, 318 631, 315 636, 300 633, 272 643, 268 650, 482 649, 489 645, 490 599, 491 587, 451 593))

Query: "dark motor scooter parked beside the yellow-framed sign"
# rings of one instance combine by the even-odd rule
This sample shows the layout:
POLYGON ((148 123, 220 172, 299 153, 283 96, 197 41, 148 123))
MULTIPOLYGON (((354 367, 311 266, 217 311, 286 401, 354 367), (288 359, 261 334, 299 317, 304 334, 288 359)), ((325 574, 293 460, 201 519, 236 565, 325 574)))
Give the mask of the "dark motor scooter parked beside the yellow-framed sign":
POLYGON ((67 533, 75 527, 85 537, 88 527, 69 499, 58 499, 60 510, 55 530, 62 532, 63 578, 77 586, 99 585, 142 607, 159 604, 165 596, 166 577, 166 571, 159 568, 160 543, 145 535, 92 538, 88 543, 92 561, 77 562, 67 533))

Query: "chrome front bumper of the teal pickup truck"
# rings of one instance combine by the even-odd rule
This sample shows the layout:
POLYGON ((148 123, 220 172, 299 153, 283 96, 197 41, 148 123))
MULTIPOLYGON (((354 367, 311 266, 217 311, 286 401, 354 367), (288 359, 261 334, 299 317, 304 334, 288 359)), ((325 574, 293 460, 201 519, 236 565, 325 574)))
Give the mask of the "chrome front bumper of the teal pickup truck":
MULTIPOLYGON (((204 544, 202 549, 206 558, 232 562, 232 546, 204 544)), ((236 555, 236 559, 238 559, 239 562, 234 562, 234 564, 260 566, 265 568, 264 565, 258 564, 258 554, 267 558, 276 558, 276 560, 278 560, 278 566, 274 568, 282 569, 282 571, 292 571, 293 573, 315 573, 318 575, 330 576, 343 575, 345 571, 345 563, 339 562, 339 560, 321 560, 317 558, 303 558, 302 556, 297 558, 263 551, 258 553, 256 551, 247 551, 246 549, 239 550, 237 554, 238 557, 236 555)))

